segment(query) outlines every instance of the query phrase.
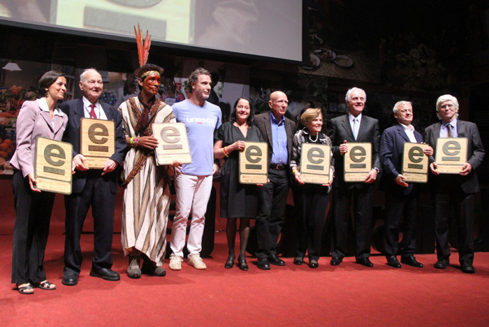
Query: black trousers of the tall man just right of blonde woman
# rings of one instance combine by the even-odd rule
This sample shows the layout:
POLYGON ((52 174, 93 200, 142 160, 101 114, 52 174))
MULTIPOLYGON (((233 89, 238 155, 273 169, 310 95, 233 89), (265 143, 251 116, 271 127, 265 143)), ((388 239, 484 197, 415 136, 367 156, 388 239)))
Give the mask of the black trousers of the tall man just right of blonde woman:
POLYGON ((334 189, 335 229, 331 238, 331 256, 343 258, 346 255, 348 224, 351 220, 350 205, 353 197, 353 218, 355 230, 356 259, 370 256, 372 238, 372 198, 373 187, 334 189))

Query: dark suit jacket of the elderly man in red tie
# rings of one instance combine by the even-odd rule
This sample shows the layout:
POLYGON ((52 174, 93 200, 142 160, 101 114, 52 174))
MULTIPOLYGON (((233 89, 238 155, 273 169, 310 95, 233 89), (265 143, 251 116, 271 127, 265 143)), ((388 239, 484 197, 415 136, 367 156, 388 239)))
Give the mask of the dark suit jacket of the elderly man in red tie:
MULTIPOLYGON (((112 154, 110 159, 116 161, 120 164, 124 159, 124 154, 126 151, 127 143, 124 136, 124 130, 122 129, 122 117, 117 111, 117 109, 108 105, 107 103, 99 102, 102 106, 103 112, 107 119, 113 120, 115 122, 115 152, 112 154)), ((73 145, 73 157, 80 153, 80 119, 85 117, 85 112, 83 110, 83 100, 75 99, 61 103, 59 106, 63 112, 68 115, 68 125, 64 131, 63 140, 64 142, 71 143, 73 145)), ((115 169, 111 173, 105 174, 103 177, 110 181, 110 191, 113 194, 117 191, 117 171, 115 169)), ((73 175, 73 193, 80 193, 85 187, 85 180, 87 180, 87 171, 77 170, 75 175, 73 175)))

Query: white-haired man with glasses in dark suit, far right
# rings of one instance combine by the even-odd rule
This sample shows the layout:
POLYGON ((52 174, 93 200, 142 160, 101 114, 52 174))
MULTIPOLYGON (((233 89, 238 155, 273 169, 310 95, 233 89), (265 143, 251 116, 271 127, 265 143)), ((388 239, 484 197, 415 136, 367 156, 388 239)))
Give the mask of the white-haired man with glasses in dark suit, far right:
POLYGON ((435 191, 435 235, 437 257, 435 268, 446 269, 450 263, 448 229, 451 205, 455 207, 458 226, 458 260, 463 273, 475 273, 474 261, 474 198, 479 191, 476 169, 484 157, 479 129, 472 122, 458 119, 458 100, 445 94, 437 99, 437 115, 441 122, 426 128, 425 142, 435 149, 437 138, 467 138, 467 162, 458 174, 439 175, 438 165, 430 157, 431 178, 435 191))

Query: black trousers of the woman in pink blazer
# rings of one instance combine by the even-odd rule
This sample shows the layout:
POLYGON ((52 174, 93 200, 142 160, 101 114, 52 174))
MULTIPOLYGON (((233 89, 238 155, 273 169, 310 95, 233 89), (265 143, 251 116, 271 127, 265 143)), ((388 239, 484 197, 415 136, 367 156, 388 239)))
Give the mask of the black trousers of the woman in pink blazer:
POLYGON ((48 243, 54 193, 31 190, 29 181, 15 170, 12 180, 15 226, 12 247, 12 283, 38 283, 46 279, 44 253, 48 243))

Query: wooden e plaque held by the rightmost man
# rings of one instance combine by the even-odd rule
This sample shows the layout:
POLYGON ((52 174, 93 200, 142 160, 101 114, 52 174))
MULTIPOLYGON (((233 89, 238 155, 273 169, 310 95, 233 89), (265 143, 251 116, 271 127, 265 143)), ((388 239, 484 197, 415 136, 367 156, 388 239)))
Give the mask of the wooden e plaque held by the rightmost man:
POLYGON ((435 161, 441 174, 458 174, 467 162, 467 138, 438 138, 435 161))

